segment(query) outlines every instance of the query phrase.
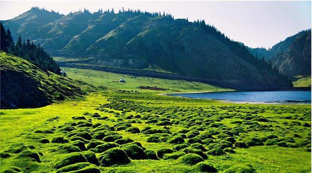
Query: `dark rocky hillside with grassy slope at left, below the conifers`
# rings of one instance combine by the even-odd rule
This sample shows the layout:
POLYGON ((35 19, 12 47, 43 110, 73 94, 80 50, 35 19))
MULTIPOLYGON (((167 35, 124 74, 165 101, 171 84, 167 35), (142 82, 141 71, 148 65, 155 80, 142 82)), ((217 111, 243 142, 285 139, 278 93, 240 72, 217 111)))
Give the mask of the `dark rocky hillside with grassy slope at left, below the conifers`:
POLYGON ((72 80, 6 52, 0 52, 1 109, 38 107, 81 97, 72 80))

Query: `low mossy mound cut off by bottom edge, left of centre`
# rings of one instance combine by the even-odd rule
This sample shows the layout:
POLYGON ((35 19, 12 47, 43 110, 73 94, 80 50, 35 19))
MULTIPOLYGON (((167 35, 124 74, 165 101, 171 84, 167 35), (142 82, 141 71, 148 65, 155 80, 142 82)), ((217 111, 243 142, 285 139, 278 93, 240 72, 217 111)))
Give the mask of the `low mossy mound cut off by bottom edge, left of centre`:
POLYGON ((90 163, 75 163, 60 168, 56 173, 100 173, 100 170, 90 163))

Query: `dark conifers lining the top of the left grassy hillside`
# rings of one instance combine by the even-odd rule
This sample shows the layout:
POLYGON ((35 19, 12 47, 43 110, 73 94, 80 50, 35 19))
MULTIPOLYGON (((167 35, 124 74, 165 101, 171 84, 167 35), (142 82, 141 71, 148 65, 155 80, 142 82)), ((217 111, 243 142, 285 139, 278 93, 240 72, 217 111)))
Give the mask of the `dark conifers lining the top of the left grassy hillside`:
POLYGON ((31 42, 29 39, 22 41, 21 37, 19 37, 16 43, 14 43, 11 31, 9 29, 5 30, 2 23, 0 23, 0 25, 1 51, 31 61, 43 69, 60 74, 59 65, 40 45, 35 45, 34 42, 31 42))

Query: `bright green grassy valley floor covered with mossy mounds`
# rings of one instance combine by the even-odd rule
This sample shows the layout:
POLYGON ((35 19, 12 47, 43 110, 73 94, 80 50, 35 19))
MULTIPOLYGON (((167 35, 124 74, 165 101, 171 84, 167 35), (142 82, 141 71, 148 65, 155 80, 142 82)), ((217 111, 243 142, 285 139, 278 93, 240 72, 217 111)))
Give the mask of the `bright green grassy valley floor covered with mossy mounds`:
POLYGON ((310 104, 231 104, 178 98, 159 94, 231 89, 91 69, 66 68, 66 72, 88 93, 84 100, 33 109, 1 109, 1 170, 311 170, 310 104), (120 78, 126 83, 113 82, 120 78), (114 157, 118 148, 126 157, 114 157), (105 150, 113 153, 103 155, 105 150))

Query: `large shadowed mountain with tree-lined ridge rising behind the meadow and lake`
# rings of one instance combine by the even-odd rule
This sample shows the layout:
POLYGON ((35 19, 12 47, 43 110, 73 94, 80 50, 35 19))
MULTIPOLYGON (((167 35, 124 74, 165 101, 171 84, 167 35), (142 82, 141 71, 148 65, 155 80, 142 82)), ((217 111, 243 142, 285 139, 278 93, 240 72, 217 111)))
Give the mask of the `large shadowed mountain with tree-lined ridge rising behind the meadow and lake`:
MULTIPOLYGON (((21 16, 30 16, 33 10, 37 9, 21 16)), ((15 20, 2 22, 9 28, 23 25, 15 20)), ((39 23, 37 20, 40 19, 34 18, 33 22, 39 23)), ((81 58, 72 64, 155 68, 251 89, 291 87, 268 63, 256 59, 243 44, 230 40, 205 21, 189 22, 133 10, 117 14, 84 10, 42 23, 45 24, 32 26, 36 29, 27 32, 29 38, 51 55, 81 58)), ((23 32, 16 33, 20 34, 23 32)))

